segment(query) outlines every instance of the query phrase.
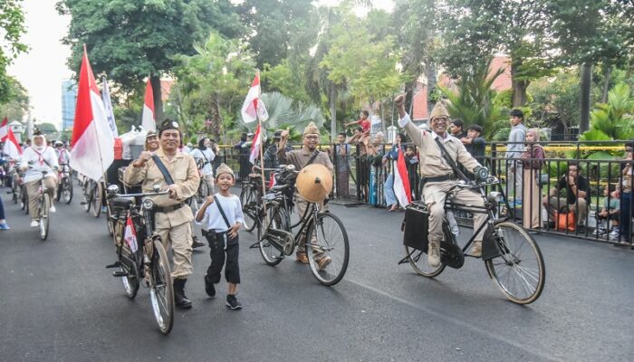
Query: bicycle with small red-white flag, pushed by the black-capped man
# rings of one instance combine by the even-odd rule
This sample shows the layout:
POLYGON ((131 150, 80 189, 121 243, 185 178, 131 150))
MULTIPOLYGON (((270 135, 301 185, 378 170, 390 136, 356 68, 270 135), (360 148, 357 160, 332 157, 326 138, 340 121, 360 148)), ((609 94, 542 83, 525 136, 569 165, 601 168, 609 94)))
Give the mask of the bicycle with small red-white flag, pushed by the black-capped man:
POLYGON ((153 193, 119 194, 119 186, 108 186, 117 261, 106 268, 119 269, 112 275, 121 278, 130 299, 137 296, 141 280, 145 281, 154 319, 161 333, 168 334, 174 325, 174 287, 168 254, 154 232, 154 201, 150 198, 168 193, 159 190, 160 186, 155 186, 153 193), (136 237, 139 231, 140 244, 136 237))

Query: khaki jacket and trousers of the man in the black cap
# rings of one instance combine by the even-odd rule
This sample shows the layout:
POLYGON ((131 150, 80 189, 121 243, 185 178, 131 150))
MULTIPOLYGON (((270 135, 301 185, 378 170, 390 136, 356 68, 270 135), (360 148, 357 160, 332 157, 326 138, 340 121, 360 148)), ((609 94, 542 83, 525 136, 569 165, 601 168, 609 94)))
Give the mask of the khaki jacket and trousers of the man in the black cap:
MULTIPOLYGON (((157 212, 154 215, 156 224, 155 232, 161 237, 166 250, 168 250, 169 245, 172 247, 174 253, 172 277, 187 277, 187 275, 192 272, 192 230, 189 223, 194 217, 192 216, 192 211, 189 206, 184 205, 184 203, 188 197, 196 194, 200 176, 198 176, 198 169, 194 158, 189 155, 177 152, 177 154, 169 160, 160 148, 155 152, 155 155, 160 158, 163 165, 168 169, 169 175, 172 176, 174 183, 178 186, 178 190, 177 198, 175 199, 169 198, 168 195, 158 195, 153 196, 152 200, 154 200, 154 203, 159 207, 183 204, 179 209, 169 211, 168 213, 157 212)), ((144 167, 134 167, 132 165, 127 167, 123 178, 124 182, 129 185, 141 183, 144 193, 152 192, 154 185, 160 185, 161 188, 168 186, 159 167, 157 167, 151 158, 146 162, 144 167)))

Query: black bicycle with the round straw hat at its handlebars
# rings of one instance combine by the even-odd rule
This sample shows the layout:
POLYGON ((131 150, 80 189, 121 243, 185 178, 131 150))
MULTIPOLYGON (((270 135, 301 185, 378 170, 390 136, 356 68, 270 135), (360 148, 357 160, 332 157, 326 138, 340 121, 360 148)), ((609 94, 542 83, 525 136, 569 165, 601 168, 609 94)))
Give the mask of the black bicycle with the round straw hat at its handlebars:
POLYGON ((293 166, 281 166, 280 170, 277 175, 279 184, 262 197, 264 205, 256 219, 258 241, 252 247, 258 247, 264 262, 274 266, 292 255, 300 239, 305 237, 305 252, 312 275, 323 285, 335 285, 348 269, 348 233, 337 216, 320 211, 317 203, 309 203, 297 224, 292 224, 293 205, 289 195, 293 195, 297 171, 293 166), (322 263, 324 258, 330 258, 330 262, 322 263))

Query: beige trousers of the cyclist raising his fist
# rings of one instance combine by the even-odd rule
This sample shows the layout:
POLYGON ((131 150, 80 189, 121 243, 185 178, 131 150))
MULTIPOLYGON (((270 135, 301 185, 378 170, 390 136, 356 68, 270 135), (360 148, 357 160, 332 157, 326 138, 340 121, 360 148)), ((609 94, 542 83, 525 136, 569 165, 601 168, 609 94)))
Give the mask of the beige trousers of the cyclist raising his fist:
MULTIPOLYGON (((423 196, 425 204, 429 209, 429 242, 437 242, 443 240, 443 217, 445 216, 445 200, 447 192, 456 185, 456 181, 432 182, 425 185, 423 196)), ((456 190, 456 189, 455 189, 456 190)), ((459 190, 459 189, 458 189, 459 190)), ((476 194, 472 190, 459 190, 453 198, 453 202, 459 205, 484 206, 485 201, 482 196, 476 194)), ((474 231, 480 225, 485 224, 488 215, 485 213, 474 213, 474 231)), ((482 241, 485 235, 483 228, 476 235, 475 241, 482 241)))

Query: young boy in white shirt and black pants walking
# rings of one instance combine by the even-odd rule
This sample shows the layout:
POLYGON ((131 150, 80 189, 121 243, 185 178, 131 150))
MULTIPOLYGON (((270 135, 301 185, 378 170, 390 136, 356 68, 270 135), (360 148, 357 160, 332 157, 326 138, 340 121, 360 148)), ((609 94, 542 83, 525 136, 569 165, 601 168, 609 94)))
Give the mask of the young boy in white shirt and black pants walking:
POLYGON ((240 198, 231 194, 235 185, 234 172, 221 164, 216 169, 216 195, 207 196, 205 204, 196 214, 196 221, 206 220, 207 242, 211 252, 211 265, 205 274, 205 291, 210 298, 216 296, 214 284, 220 281, 220 271, 225 266, 225 278, 228 284, 226 306, 231 310, 241 310, 242 304, 235 299, 237 284, 240 283, 238 267, 238 230, 245 222, 240 198))

